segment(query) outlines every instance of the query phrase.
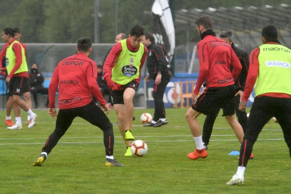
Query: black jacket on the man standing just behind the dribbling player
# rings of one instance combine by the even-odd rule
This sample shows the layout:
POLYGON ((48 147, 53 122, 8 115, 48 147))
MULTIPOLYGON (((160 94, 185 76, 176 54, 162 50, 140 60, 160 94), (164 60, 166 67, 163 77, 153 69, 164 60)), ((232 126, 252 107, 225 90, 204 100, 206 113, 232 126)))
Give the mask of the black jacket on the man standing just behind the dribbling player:
POLYGON ((158 72, 163 75, 171 76, 170 65, 164 54, 162 46, 152 43, 148 45, 147 67, 150 78, 156 79, 158 72))

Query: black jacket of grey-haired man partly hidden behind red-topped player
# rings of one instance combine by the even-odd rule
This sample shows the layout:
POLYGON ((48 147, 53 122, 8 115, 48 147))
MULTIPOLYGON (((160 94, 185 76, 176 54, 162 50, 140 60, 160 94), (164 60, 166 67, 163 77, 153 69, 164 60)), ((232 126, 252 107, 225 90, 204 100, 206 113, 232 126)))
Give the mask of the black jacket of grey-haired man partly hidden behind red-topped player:
MULTIPOLYGON (((235 89, 236 91, 244 91, 244 87, 246 86, 246 76, 248 75, 250 65, 249 56, 244 49, 236 47, 234 44, 232 44, 231 47, 235 51, 235 54, 240 61, 240 64, 242 64, 242 71, 235 81, 235 89)), ((230 66, 230 70, 233 71, 232 66, 230 66)))

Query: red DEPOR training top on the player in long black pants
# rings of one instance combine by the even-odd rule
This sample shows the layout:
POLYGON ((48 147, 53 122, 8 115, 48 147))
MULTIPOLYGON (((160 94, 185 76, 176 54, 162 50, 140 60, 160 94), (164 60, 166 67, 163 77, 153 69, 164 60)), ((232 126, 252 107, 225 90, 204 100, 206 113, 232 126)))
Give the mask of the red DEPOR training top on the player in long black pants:
POLYGON ((55 95, 59 86, 60 109, 85 106, 92 101, 91 93, 102 106, 106 104, 97 84, 95 61, 84 53, 77 53, 58 63, 49 84, 49 108, 55 108, 55 95))

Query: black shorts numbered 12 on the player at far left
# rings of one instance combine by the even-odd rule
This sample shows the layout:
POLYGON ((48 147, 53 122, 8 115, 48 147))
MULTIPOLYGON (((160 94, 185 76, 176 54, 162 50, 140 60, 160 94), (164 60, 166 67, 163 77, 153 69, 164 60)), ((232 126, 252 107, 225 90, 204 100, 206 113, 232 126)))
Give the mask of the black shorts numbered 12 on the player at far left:
POLYGON ((29 79, 27 77, 12 77, 9 81, 7 93, 9 96, 22 96, 23 93, 30 92, 29 79))

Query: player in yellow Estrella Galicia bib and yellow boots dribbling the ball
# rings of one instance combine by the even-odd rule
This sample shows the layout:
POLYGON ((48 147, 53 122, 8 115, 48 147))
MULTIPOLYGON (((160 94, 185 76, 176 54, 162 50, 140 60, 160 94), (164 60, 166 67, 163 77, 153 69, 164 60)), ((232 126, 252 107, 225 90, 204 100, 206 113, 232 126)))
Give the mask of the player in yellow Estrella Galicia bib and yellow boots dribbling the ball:
POLYGON ((143 31, 141 26, 133 26, 129 37, 112 47, 103 66, 104 79, 111 89, 112 104, 118 117, 119 131, 127 146, 125 156, 132 155, 132 100, 139 86, 141 68, 147 55, 147 48, 141 43, 143 31))

